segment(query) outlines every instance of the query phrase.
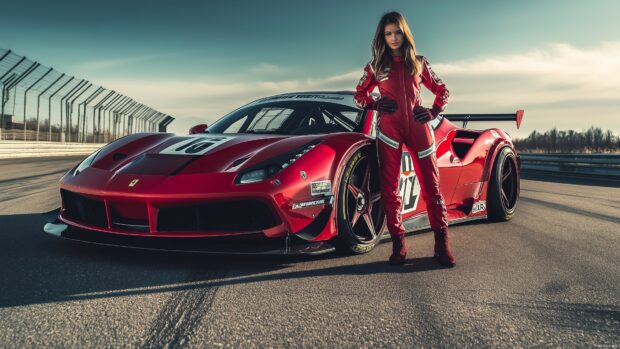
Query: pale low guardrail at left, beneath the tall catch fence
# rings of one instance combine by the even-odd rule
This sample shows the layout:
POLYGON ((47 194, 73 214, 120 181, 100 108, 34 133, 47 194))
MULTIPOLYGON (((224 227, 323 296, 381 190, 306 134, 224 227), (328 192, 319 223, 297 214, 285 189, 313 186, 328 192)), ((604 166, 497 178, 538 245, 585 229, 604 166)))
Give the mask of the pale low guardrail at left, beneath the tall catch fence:
POLYGON ((88 155, 105 144, 0 141, 0 159, 88 155))

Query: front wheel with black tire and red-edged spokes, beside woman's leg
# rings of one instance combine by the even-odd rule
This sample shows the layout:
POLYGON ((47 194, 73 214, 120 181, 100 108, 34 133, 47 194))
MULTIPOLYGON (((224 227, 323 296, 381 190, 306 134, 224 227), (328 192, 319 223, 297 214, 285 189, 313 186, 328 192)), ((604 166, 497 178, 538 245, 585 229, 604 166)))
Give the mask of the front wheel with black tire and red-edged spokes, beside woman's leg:
POLYGON ((338 186, 338 236, 335 245, 346 254, 370 252, 385 231, 379 192, 379 165, 370 148, 357 150, 344 167, 338 186))

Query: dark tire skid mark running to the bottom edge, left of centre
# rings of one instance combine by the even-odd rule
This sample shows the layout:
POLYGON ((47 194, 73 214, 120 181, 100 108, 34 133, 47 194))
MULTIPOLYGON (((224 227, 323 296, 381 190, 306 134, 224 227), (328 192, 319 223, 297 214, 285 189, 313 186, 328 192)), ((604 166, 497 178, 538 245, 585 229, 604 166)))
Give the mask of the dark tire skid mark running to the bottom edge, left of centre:
MULTIPOLYGON (((187 281, 218 281, 226 271, 194 272, 187 281)), ((217 282, 215 283, 217 284, 217 282)), ((175 292, 151 324, 143 348, 181 348, 189 344, 196 327, 208 314, 219 286, 198 286, 175 292)))

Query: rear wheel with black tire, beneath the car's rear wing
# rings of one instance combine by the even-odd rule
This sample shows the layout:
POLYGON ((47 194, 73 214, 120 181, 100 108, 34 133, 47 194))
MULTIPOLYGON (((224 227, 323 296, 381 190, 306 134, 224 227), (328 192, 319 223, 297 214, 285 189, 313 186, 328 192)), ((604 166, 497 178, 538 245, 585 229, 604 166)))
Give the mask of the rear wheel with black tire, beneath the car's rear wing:
POLYGON ((497 154, 487 189, 489 220, 508 221, 514 216, 519 201, 519 180, 515 152, 504 147, 497 154))

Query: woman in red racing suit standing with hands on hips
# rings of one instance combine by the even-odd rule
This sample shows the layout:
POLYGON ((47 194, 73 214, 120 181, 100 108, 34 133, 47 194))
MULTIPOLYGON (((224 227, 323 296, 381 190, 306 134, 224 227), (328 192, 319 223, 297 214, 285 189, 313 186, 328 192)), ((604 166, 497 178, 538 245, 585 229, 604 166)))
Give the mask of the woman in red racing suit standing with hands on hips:
POLYGON ((379 177, 393 243, 390 264, 404 264, 407 254, 400 214, 402 199, 397 193, 402 145, 405 144, 411 153, 428 219, 435 233, 435 258, 445 266, 455 265, 448 241, 446 206, 439 191, 435 140, 428 124, 443 111, 448 96, 448 89, 433 73, 426 58, 416 55, 413 36, 405 19, 398 12, 386 13, 377 26, 372 42, 372 60, 364 68, 354 100, 360 108, 369 107, 379 112, 379 177), (435 94, 430 109, 421 105, 420 84, 435 94), (377 86, 381 97, 374 100, 370 92, 377 86))

